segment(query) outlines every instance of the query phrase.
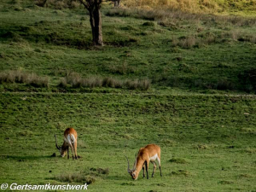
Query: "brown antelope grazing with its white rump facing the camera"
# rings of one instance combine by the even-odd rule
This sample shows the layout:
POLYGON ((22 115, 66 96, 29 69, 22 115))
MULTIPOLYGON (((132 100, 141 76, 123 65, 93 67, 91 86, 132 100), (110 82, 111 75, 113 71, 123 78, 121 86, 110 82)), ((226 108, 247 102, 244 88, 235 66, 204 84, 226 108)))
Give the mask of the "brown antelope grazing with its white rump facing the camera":
POLYGON ((76 160, 78 159, 77 141, 78 141, 78 134, 77 134, 77 131, 75 131, 73 128, 67 128, 67 130, 64 131, 64 142, 62 146, 58 146, 57 137, 55 135, 56 148, 58 148, 58 150, 60 151, 61 157, 64 157, 65 154, 67 153, 67 159, 69 159, 69 152, 68 152, 69 147, 72 150, 72 157, 74 154, 75 159, 76 160))

